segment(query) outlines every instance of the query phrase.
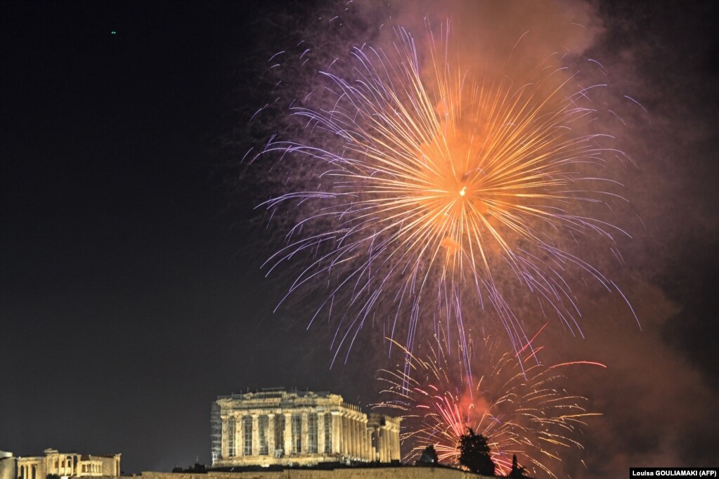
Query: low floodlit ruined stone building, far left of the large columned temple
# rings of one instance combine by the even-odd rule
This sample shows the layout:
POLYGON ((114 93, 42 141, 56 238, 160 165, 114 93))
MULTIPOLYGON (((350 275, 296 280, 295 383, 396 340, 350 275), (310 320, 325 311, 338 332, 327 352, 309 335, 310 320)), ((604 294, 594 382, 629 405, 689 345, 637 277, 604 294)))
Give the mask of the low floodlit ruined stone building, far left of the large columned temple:
POLYGON ((46 449, 44 456, 17 457, 17 479, 45 479, 47 475, 63 477, 100 477, 120 475, 120 455, 90 455, 46 449))

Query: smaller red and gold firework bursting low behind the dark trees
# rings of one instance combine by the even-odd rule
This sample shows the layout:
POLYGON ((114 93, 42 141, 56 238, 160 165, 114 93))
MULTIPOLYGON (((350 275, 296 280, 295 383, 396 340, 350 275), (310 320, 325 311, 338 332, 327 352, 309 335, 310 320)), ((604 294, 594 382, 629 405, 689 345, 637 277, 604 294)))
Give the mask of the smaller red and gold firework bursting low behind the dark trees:
POLYGON ((463 372, 464 355, 448 352, 444 334, 426 343, 423 358, 405 349, 406 367, 380 371, 387 399, 374 407, 403 417, 401 440, 411 445, 404 447, 404 460, 416 459, 433 445, 440 462, 459 466, 459 437, 472 428, 487 437, 498 474, 508 474, 517 455, 533 476, 556 478, 552 469, 562 452, 582 448, 572 436, 587 417, 598 414, 587 412, 584 397, 561 388, 557 368, 587 362, 547 367, 537 362, 539 348, 529 343, 520 355, 500 354, 498 344, 485 339, 477 358, 470 353, 474 386, 463 372))

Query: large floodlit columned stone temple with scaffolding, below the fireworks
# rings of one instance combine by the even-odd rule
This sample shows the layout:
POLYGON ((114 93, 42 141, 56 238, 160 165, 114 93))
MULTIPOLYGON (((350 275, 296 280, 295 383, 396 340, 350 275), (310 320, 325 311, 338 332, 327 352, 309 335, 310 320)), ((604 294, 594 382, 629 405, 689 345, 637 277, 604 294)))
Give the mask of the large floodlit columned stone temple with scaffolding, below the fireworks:
POLYGON ((400 460, 400 419, 365 414, 327 392, 262 391, 212 404, 212 465, 400 460))

